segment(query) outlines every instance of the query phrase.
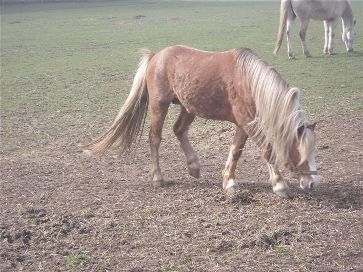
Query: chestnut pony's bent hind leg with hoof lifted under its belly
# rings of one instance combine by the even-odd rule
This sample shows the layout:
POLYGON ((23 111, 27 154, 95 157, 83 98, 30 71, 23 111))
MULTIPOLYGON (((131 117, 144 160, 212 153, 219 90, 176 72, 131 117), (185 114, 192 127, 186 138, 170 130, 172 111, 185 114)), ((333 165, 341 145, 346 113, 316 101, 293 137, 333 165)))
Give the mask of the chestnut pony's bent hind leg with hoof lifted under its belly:
POLYGON ((193 122, 195 115, 188 113, 184 106, 181 105, 181 111, 177 121, 174 124, 174 133, 177 136, 181 149, 186 156, 189 174, 195 178, 200 177, 200 164, 197 154, 193 147, 190 145, 188 139, 189 126, 193 122))

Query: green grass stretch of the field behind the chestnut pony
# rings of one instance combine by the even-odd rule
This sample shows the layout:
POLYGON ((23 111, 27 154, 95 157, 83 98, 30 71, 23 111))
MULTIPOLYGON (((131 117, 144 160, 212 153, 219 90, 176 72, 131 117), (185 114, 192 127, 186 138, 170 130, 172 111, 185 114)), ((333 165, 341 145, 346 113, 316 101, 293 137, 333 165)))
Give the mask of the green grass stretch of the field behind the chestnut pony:
POLYGON ((303 89, 310 112, 357 113, 362 108, 362 1, 352 1, 357 20, 353 54, 345 53, 337 28, 335 56, 323 52, 322 22, 312 21, 302 56, 295 25, 297 60, 286 41, 274 57, 278 1, 110 1, 1 6, 1 112, 37 113, 75 122, 100 108, 116 111, 128 94, 140 48, 174 44, 223 51, 249 47, 303 89), (142 15, 139 19, 135 16, 142 15), (87 106, 85 106, 87 105, 87 106), (337 107, 339 106, 339 107, 337 107), (60 112, 58 112, 60 111, 60 112))

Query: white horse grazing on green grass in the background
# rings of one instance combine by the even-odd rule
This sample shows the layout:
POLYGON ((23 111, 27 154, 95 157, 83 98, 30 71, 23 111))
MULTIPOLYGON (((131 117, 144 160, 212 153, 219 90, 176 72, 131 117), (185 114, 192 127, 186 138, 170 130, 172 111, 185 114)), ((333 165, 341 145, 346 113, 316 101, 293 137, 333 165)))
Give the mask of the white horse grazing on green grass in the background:
POLYGON ((346 44, 347 52, 353 52, 353 41, 356 37, 356 20, 353 21, 353 11, 348 0, 282 0, 280 7, 280 27, 274 50, 275 56, 280 49, 284 32, 287 27, 287 53, 289 59, 295 58, 291 47, 291 39, 296 17, 301 21, 299 35, 303 46, 304 56, 311 57, 305 42, 306 29, 308 28, 310 19, 324 21, 324 54, 332 55, 335 28, 337 27, 339 18, 342 18, 342 39, 346 44))

